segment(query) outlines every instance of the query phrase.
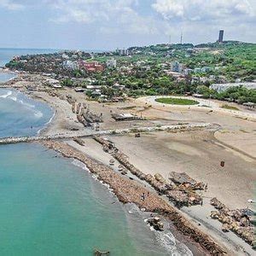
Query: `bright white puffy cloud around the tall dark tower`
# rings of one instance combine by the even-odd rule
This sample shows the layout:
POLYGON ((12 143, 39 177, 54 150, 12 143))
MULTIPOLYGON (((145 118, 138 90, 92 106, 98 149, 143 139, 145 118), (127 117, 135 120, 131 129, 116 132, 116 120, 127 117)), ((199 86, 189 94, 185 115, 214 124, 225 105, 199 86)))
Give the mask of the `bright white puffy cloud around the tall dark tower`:
POLYGON ((212 41, 219 29, 227 39, 255 38, 255 0, 154 0, 151 7, 166 21, 167 32, 177 38, 183 31, 187 42, 212 41))

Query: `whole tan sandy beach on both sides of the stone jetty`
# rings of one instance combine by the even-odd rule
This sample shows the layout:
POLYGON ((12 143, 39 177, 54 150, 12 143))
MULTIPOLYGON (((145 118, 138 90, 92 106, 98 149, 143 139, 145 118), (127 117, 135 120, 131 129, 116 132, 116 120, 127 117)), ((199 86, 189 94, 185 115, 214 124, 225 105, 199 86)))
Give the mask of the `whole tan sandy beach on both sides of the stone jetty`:
MULTIPOLYGON (((224 250, 227 250, 230 255, 232 252, 236 255, 244 255, 245 252, 253 255, 252 247, 232 232, 223 233, 221 224, 217 220, 211 219, 209 215, 214 209, 210 205, 212 197, 217 197, 230 209, 247 207, 253 209, 253 205, 249 204, 248 200, 253 199, 256 180, 255 113, 248 113, 242 108, 239 114, 231 113, 220 109, 219 102, 212 102, 212 108, 166 106, 155 104, 152 99, 145 98, 102 104, 88 101, 84 94, 70 88, 55 90, 56 95, 53 95, 49 93, 48 86, 40 84, 40 82, 35 86, 33 79, 12 81, 7 86, 24 91, 55 108, 55 117, 47 129, 42 131, 43 135, 69 134, 74 130, 77 134, 81 131, 90 134, 92 131, 90 127, 84 127, 79 123, 77 115, 72 111, 71 104, 66 100, 67 95, 73 96, 77 102, 88 104, 91 112, 102 113, 101 131, 189 122, 212 124, 207 129, 195 131, 160 131, 142 133, 141 137, 135 137, 134 134, 107 137, 115 147, 128 156, 134 166, 145 174, 160 173, 168 180, 169 172, 186 172, 190 177, 207 183, 207 191, 201 191, 201 196, 204 199, 203 207, 183 207, 181 210, 175 209, 175 211, 182 214, 184 218, 188 218, 192 224, 211 236, 211 239, 218 241, 218 244, 224 247, 224 250), (28 90, 28 87, 32 87, 33 90, 28 90), (111 118, 113 112, 134 113, 143 117, 143 120, 116 122, 111 118), (224 167, 220 166, 221 161, 224 161, 224 167)), ((96 160, 97 163, 110 168, 109 160, 113 159, 113 156, 103 152, 102 145, 92 138, 84 138, 83 141, 84 146, 70 139, 64 140, 63 147, 65 148, 67 145, 74 148, 78 150, 79 154, 86 155, 90 159, 96 160)), ((62 147, 61 145, 57 144, 58 147, 62 147)), ((55 148, 55 144, 47 146, 55 148)), ((55 149, 60 151, 58 147, 55 149)), ((113 170, 112 178, 119 180, 119 175, 115 175, 118 172, 118 164, 115 163, 110 169, 113 170)), ((125 180, 129 181, 129 178, 125 180)), ((119 181, 116 184, 118 183, 119 181)), ((142 188, 144 188, 145 184, 141 181, 136 180, 135 183, 139 187, 143 185, 142 188)), ((115 189, 119 187, 123 187, 122 182, 115 189)), ((146 186, 146 189, 154 193, 152 188, 146 186)), ((127 199, 126 196, 131 193, 130 191, 124 193, 123 197, 121 196, 123 198, 121 201, 132 201, 145 207, 140 205, 137 200, 127 199)), ((155 203, 158 204, 159 200, 159 197, 155 198, 155 203)), ((172 207, 172 204, 165 198, 161 200, 165 201, 166 207, 172 207)), ((154 211, 155 207, 147 209, 154 211)))

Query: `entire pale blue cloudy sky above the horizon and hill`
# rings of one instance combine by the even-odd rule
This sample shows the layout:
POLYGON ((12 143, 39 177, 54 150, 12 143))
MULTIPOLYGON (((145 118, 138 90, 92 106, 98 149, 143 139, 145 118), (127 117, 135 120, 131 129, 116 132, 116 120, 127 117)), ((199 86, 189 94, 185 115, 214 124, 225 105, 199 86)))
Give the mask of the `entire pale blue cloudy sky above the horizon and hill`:
POLYGON ((0 0, 0 48, 256 43, 256 0, 0 0))

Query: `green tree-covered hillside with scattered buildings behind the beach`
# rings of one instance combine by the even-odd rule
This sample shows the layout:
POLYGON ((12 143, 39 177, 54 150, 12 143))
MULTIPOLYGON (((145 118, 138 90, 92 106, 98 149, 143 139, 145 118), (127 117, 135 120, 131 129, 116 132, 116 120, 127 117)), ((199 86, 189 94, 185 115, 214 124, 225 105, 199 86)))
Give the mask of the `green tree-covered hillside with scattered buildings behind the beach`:
MULTIPOLYGON (((49 73, 62 85, 84 87, 101 85, 102 95, 175 96, 201 94, 204 98, 228 102, 256 103, 256 90, 234 87, 223 92, 211 90, 211 84, 252 82, 256 79, 256 44, 227 41, 224 44, 157 44, 131 47, 129 56, 117 52, 95 53, 67 51, 68 60, 99 61, 102 72, 63 68, 63 53, 25 55, 10 61, 6 67, 30 73, 49 73), (117 67, 107 67, 114 58, 117 67), (178 61, 186 72, 171 73, 172 61, 178 61), (116 84, 123 85, 120 90, 116 84)), ((88 91, 91 96, 93 90, 88 91)))

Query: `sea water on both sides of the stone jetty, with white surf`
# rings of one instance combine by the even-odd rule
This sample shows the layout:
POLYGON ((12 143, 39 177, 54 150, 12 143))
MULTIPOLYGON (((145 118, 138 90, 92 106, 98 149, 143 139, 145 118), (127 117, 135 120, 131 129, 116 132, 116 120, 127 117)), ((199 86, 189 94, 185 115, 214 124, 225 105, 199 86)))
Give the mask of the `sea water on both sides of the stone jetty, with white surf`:
MULTIPOLYGON (((0 89, 0 137, 32 135, 53 111, 0 89)), ((0 255, 189 255, 171 232, 152 231, 81 163, 38 143, 0 146, 0 255)))

